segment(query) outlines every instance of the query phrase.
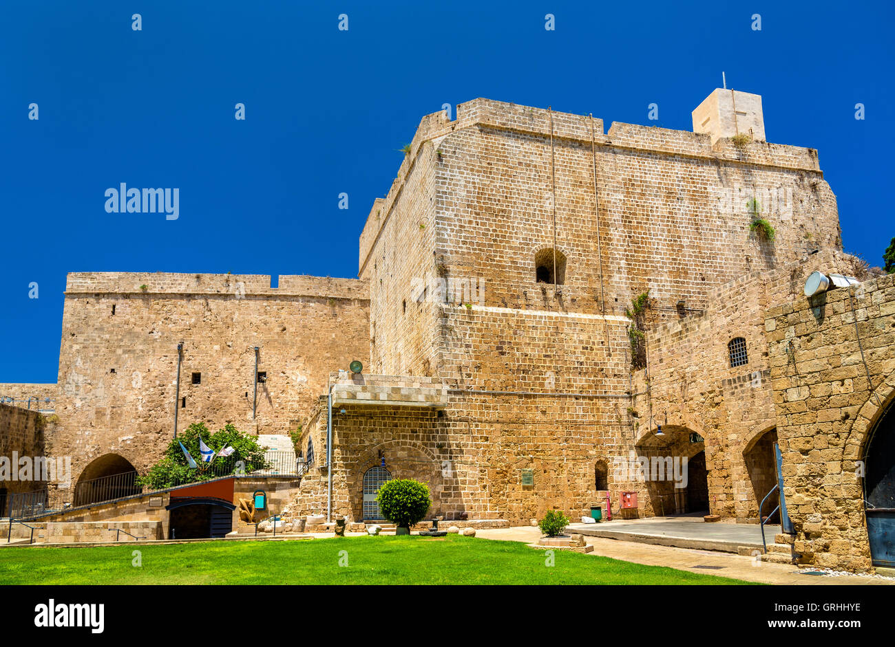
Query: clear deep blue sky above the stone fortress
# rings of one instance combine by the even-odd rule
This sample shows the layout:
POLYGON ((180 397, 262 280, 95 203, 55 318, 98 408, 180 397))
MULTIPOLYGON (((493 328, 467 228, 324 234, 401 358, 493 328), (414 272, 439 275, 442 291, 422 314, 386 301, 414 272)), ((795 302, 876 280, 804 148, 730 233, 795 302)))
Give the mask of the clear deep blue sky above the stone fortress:
POLYGON ((819 150, 846 250, 882 265, 893 4, 778 4, 4 0, 0 382, 55 382, 67 272, 356 276, 399 149, 474 97, 691 130, 725 71, 769 141, 819 150), (179 218, 107 214, 120 182, 179 188, 179 218))

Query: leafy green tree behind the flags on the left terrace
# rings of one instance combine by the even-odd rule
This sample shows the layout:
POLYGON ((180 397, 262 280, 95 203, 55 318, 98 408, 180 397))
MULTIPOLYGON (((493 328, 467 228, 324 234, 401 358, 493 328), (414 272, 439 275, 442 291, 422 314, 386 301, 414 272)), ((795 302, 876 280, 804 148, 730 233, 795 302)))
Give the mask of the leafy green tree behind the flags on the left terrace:
POLYGON ((141 476, 138 483, 152 490, 163 490, 183 483, 198 483, 233 474, 239 467, 246 473, 268 467, 264 450, 255 436, 240 432, 233 424, 226 424, 223 429, 210 433, 204 423, 193 423, 177 438, 168 442, 163 458, 146 475, 141 476), (199 449, 200 438, 216 452, 230 446, 234 453, 227 457, 216 456, 210 463, 203 463, 199 449), (180 449, 181 442, 196 461, 197 467, 193 468, 187 463, 183 450, 180 449))

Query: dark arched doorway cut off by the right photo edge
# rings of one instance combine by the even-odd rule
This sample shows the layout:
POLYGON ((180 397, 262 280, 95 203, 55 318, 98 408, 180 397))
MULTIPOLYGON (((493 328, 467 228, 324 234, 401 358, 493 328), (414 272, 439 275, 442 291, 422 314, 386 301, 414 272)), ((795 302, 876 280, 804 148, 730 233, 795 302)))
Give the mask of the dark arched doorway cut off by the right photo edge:
POLYGON ((864 461, 870 556, 874 566, 895 567, 895 407, 874 427, 864 461))

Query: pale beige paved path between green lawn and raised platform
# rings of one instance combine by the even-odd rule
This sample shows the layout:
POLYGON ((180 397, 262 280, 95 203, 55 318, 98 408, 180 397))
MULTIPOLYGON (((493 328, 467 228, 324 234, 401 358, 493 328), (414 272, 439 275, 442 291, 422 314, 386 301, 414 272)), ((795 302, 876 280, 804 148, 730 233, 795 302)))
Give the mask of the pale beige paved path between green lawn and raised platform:
MULTIPOLYGON (((533 526, 520 526, 477 530, 475 536, 483 539, 534 543, 541 537, 541 531, 533 526)), ((694 550, 640 542, 620 542, 615 539, 592 536, 585 536, 584 540, 593 546, 593 551, 585 553, 586 555, 600 555, 648 566, 678 568, 691 573, 733 577, 748 582, 764 584, 895 584, 893 580, 883 580, 872 576, 809 576, 805 573, 810 571, 810 568, 799 569, 786 564, 771 564, 751 557, 732 555, 716 550, 694 550)))

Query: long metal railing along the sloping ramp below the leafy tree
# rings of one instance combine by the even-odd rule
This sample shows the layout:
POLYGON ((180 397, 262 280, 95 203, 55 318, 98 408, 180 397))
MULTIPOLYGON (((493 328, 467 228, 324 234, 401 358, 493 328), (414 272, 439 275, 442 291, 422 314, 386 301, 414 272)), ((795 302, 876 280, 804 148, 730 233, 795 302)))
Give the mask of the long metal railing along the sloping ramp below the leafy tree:
MULTIPOLYGON (((253 476, 302 477, 307 464, 296 458, 291 451, 268 451, 264 462, 255 466, 247 465, 235 457, 219 458, 212 463, 200 463, 183 477, 168 481, 164 487, 142 484, 137 472, 125 472, 100 476, 89 481, 79 481, 73 490, 55 487, 41 487, 33 492, 13 492, 9 496, 11 519, 34 519, 64 512, 72 508, 84 508, 100 503, 131 499, 153 492, 166 492, 185 485, 205 483, 229 476, 237 478, 253 476)), ((124 532, 124 531, 122 531, 124 532)))

